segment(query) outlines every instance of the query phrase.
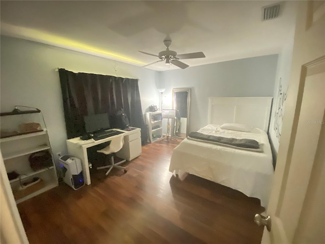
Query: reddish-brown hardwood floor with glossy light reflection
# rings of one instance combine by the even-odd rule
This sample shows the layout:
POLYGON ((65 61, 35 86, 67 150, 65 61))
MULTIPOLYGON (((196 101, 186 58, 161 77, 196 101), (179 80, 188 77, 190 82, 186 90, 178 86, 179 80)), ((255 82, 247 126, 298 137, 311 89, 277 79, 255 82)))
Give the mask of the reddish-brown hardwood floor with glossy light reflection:
POLYGON ((168 171, 178 142, 158 141, 125 163, 91 171, 90 186, 64 183, 18 204, 34 243, 261 243, 259 200, 197 176, 168 171))

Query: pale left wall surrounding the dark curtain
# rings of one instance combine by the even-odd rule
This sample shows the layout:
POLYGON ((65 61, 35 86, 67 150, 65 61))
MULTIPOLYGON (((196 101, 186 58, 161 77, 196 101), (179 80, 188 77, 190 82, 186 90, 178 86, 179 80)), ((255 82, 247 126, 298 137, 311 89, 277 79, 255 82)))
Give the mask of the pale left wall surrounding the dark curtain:
POLYGON ((58 72, 73 72, 138 78, 142 109, 157 104, 156 72, 114 60, 36 42, 1 37, 1 112, 15 105, 41 109, 54 155, 67 153, 66 125, 58 72), (115 70, 116 69, 116 70, 115 70))

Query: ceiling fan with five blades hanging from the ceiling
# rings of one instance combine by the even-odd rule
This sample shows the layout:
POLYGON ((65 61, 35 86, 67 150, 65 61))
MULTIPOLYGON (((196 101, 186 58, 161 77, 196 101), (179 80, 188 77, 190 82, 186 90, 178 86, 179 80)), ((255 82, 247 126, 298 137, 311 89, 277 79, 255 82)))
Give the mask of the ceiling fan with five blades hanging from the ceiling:
POLYGON ((192 52, 192 53, 177 54, 177 52, 169 50, 169 46, 172 44, 172 39, 170 37, 166 37, 164 39, 164 44, 167 47, 166 51, 161 51, 161 52, 158 53, 158 55, 143 52, 143 51, 139 51, 139 52, 142 52, 144 54, 148 54, 148 55, 151 55, 151 56, 158 57, 160 59, 160 60, 158 60, 156 62, 153 62, 151 64, 148 64, 148 65, 145 65, 145 66, 142 66, 142 67, 147 67, 149 65, 153 65, 155 63, 163 62, 163 61, 166 60, 166 65, 173 64, 173 65, 175 65, 175 66, 177 66, 177 67, 179 67, 181 69, 186 69, 189 66, 184 64, 183 62, 180 62, 179 59, 205 57, 203 52, 192 52))

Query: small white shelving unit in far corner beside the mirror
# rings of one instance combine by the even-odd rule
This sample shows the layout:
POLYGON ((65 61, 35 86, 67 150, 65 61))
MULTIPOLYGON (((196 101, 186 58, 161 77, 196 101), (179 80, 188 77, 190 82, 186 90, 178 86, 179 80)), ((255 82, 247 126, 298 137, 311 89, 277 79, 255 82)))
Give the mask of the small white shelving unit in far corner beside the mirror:
POLYGON ((161 111, 146 112, 148 142, 154 142, 163 136, 163 114, 161 111))

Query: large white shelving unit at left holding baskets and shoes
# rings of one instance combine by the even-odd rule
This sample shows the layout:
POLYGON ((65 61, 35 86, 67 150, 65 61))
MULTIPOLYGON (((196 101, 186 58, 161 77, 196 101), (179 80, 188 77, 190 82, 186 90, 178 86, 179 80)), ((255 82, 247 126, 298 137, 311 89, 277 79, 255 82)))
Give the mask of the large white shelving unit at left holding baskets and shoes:
POLYGON ((9 181, 17 204, 58 186, 48 132, 39 110, 1 113, 1 136, 0 145, 6 171, 19 174, 9 181), (19 131, 19 125, 23 123, 36 123, 41 128, 19 131), (30 167, 29 156, 44 150, 51 155, 50 162, 37 169, 30 167), (40 178, 40 182, 24 187, 24 183, 31 182, 34 177, 40 178))

